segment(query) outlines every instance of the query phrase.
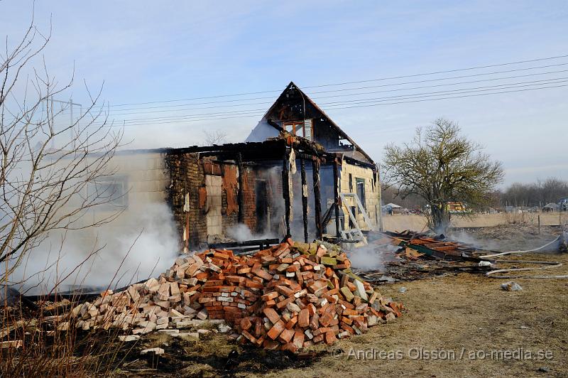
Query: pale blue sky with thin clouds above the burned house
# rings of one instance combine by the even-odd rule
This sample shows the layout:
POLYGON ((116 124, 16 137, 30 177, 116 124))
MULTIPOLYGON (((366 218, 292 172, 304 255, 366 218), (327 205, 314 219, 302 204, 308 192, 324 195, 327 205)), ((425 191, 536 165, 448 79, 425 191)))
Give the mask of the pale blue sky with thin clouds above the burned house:
MULTIPOLYGON (((31 1, 0 1, 3 38, 22 33, 31 6, 31 1)), ((45 50, 50 73, 65 82, 75 66, 80 85, 74 88, 73 99, 87 102, 82 80, 92 88, 104 82, 102 97, 111 105, 282 90, 290 80, 310 87, 568 54, 567 1, 35 4, 40 29, 47 28, 50 15, 53 34, 45 50)), ((560 62, 567 63, 568 58, 534 65, 560 62)), ((386 95, 396 93, 376 96, 386 95)), ((568 87, 558 87, 354 109, 322 108, 379 163, 384 146, 408 141, 416 126, 437 117, 459 121, 466 135, 503 162, 508 184, 549 176, 568 180, 567 95, 568 87)), ((330 100, 321 100, 326 101, 330 100)), ((127 108, 138 108, 136 113, 147 112, 150 106, 183 103, 127 108)), ((257 108, 266 109, 268 104, 244 104, 229 111, 257 108)), ((111 117, 119 121, 170 115, 168 108, 164 110, 142 116, 111 112, 111 117)), ((192 112, 223 111, 227 109, 192 112)), ((125 128, 126 139, 131 141, 129 148, 190 146, 202 141, 203 129, 211 129, 226 132, 229 141, 242 141, 258 118, 131 125, 125 128)))

